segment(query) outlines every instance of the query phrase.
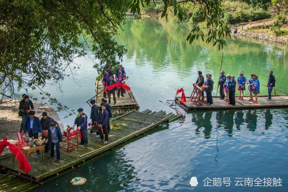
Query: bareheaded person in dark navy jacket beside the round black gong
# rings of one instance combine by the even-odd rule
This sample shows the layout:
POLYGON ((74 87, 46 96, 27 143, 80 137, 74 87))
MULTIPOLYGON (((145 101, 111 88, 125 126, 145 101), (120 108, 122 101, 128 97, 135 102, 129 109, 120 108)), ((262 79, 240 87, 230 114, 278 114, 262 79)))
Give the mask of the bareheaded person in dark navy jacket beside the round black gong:
POLYGON ((101 111, 99 112, 98 121, 97 121, 99 128, 103 129, 103 131, 99 131, 101 137, 98 141, 99 142, 103 141, 103 139, 104 139, 103 134, 105 134, 105 141, 103 142, 104 144, 108 143, 107 123, 109 122, 109 120, 108 120, 109 119, 109 113, 106 110, 106 106, 107 106, 106 103, 101 103, 101 111))

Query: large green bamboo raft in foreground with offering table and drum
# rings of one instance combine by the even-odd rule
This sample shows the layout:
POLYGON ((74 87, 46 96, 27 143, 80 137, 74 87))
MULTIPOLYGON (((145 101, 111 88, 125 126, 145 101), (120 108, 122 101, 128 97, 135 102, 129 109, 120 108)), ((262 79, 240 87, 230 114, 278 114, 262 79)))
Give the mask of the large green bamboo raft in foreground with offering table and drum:
MULTIPOLYGON (((92 158, 97 158, 100 154, 113 150, 132 138, 136 138, 161 124, 175 121, 181 117, 182 114, 177 116, 173 113, 166 114, 165 111, 152 112, 149 109, 146 109, 143 112, 137 112, 135 110, 127 112, 111 120, 113 128, 109 133, 108 144, 97 142, 96 139, 98 138, 95 138, 94 134, 88 134, 88 147, 80 145, 79 148, 74 149, 69 153, 66 153, 66 150, 61 148, 61 162, 57 164, 54 163, 54 160, 48 159, 50 152, 45 153, 44 162, 42 162, 42 155, 37 155, 36 152, 33 152, 31 153, 31 157, 28 157, 32 170, 27 174, 18 169, 18 161, 12 162, 12 155, 3 156, 0 159, 1 170, 21 177, 22 179, 16 178, 18 179, 17 181, 10 181, 7 180, 8 176, 3 176, 3 178, 6 178, 7 182, 5 184, 1 184, 0 182, 0 191, 6 191, 7 186, 12 186, 14 182, 15 186, 16 182, 18 182, 21 186, 23 184, 23 187, 16 187, 12 191, 22 191, 23 188, 31 189, 32 186, 37 187, 37 184, 43 184, 44 181, 51 180, 51 176, 53 175, 69 171, 71 170, 70 168, 77 167, 85 161, 88 162, 88 159, 92 160, 92 158), (31 181, 33 181, 35 185, 31 185, 31 181)), ((75 142, 75 140, 72 142, 75 142)))

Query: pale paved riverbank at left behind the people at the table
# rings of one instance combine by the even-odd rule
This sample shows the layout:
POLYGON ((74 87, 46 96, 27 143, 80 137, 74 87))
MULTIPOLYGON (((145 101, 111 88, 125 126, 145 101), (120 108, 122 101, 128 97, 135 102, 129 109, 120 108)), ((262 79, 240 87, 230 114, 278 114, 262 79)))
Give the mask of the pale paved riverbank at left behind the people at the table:
MULTIPOLYGON (((46 111, 48 116, 52 117, 60 125, 61 130, 63 130, 63 124, 60 121, 58 114, 54 109, 48 105, 33 102, 34 111, 36 116, 41 119, 42 112, 46 111)), ((0 105, 1 114, 0 114, 0 140, 7 138, 10 143, 15 144, 18 141, 16 131, 19 131, 21 126, 22 118, 18 116, 19 112, 19 101, 14 100, 3 100, 0 105)), ((2 155, 10 153, 8 148, 5 148, 2 152, 2 155)))

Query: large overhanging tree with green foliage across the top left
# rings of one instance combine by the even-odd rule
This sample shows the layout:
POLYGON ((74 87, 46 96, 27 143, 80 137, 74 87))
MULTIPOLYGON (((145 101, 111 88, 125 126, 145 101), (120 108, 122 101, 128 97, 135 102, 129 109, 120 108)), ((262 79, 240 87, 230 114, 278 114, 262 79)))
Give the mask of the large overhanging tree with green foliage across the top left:
MULTIPOLYGON (((231 32, 222 21, 221 0, 163 0, 162 17, 168 19, 171 12, 182 20, 185 13, 181 5, 188 2, 200 7, 188 17, 193 16, 198 24, 206 22, 209 30, 205 36, 199 25, 194 25, 186 40, 192 43, 201 37, 223 48, 226 45, 223 38, 231 32)), ((127 51, 115 40, 120 25, 125 24, 125 13, 131 9, 140 14, 140 6, 149 3, 155 1, 0 0, 2 99, 12 98, 16 90, 23 88, 42 90, 47 83, 60 83, 65 76, 75 74, 79 66, 73 59, 84 56, 87 49, 91 49, 99 61, 94 65, 98 72, 105 64, 115 66, 116 58, 122 59, 127 51)), ((42 99, 48 97, 58 110, 68 109, 43 93, 42 99)))

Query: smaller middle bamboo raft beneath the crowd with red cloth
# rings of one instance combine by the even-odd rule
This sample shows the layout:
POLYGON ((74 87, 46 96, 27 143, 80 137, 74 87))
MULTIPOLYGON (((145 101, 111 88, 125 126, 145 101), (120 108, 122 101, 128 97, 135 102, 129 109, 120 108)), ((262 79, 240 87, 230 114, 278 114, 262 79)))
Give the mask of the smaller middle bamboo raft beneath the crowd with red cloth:
MULTIPOLYGON (((101 92, 104 89, 104 86, 102 84, 101 81, 96 81, 95 83, 96 88, 95 88, 95 95, 97 95, 95 97, 95 101, 98 107, 100 107, 101 104, 101 99, 104 98, 103 97, 103 92, 101 92), (101 92, 101 93, 100 93, 101 92), (100 93, 98 95, 98 93, 100 93)), ((117 97, 117 91, 115 91, 115 95, 116 95, 116 104, 114 105, 113 102, 113 97, 111 95, 111 108, 112 109, 127 109, 127 108, 139 108, 138 103, 132 93, 132 91, 126 91, 126 93, 124 93, 124 97, 117 97)), ((108 94, 107 94, 107 98, 105 98, 108 101, 108 94)))

